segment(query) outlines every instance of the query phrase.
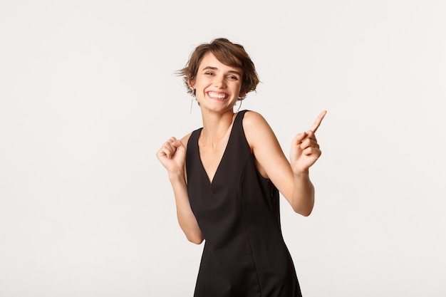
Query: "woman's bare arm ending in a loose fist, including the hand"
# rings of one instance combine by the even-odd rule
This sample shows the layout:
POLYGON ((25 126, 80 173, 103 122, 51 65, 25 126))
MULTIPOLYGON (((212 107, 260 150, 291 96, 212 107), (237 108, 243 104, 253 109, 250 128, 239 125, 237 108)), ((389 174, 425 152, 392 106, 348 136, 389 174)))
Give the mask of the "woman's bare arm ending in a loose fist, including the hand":
POLYGON ((157 158, 167 169, 170 184, 175 196, 177 206, 178 223, 187 239, 195 244, 201 244, 203 241, 202 231, 199 229, 197 219, 192 212, 187 194, 187 183, 185 177, 185 160, 187 135, 181 141, 175 137, 170 137, 161 149, 157 152, 157 158))

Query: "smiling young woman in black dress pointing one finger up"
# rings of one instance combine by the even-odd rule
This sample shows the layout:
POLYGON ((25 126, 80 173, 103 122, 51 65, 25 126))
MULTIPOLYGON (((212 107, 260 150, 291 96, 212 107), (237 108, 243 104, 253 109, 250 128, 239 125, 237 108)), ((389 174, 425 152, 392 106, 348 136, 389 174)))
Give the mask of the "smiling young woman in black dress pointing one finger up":
POLYGON ((234 113, 259 83, 243 46, 225 38, 204 43, 180 71, 198 101, 203 127, 157 152, 175 194, 187 239, 205 241, 195 297, 301 296, 281 234, 279 192, 308 216, 314 188, 308 170, 321 150, 310 130, 291 143, 290 162, 259 113, 234 113))

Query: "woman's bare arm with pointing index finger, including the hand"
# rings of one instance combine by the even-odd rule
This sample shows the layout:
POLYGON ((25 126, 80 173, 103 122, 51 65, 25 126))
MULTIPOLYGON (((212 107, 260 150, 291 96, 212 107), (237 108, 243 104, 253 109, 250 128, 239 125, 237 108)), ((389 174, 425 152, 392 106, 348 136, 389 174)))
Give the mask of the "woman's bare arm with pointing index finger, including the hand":
POLYGON ((245 135, 259 172, 271 179, 295 212, 304 216, 311 214, 314 206, 314 187, 309 177, 309 167, 321 155, 314 132, 324 116, 325 112, 321 113, 308 132, 296 135, 291 143, 291 163, 261 115, 250 112, 244 118, 245 135))

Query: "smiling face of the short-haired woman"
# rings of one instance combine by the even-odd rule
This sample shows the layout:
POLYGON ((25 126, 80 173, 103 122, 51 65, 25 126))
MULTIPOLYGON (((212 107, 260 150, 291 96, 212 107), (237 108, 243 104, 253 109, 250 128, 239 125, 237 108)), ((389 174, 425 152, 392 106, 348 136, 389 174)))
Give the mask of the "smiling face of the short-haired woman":
POLYGON ((232 110, 241 95, 242 75, 242 69, 224 65, 212 53, 204 55, 197 75, 190 81, 200 108, 232 110))

